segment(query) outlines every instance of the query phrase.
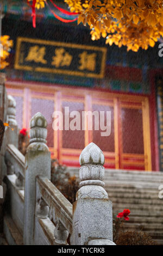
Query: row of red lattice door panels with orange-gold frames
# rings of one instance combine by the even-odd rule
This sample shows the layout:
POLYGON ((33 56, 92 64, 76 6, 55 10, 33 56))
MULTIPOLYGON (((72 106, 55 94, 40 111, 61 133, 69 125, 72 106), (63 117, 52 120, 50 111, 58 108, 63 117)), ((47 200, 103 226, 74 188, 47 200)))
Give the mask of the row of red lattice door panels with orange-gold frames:
MULTIPOLYGON (((30 118, 41 112, 48 121, 47 145, 53 158, 67 166, 79 166, 79 155, 90 142, 105 155, 105 168, 152 170, 149 102, 146 96, 114 94, 89 89, 38 85, 7 87, 17 102, 18 126, 29 127, 30 118), (101 131, 54 131, 52 114, 68 106, 70 111, 111 111, 111 135, 101 131)), ((93 124, 93 127, 95 124, 93 124)))

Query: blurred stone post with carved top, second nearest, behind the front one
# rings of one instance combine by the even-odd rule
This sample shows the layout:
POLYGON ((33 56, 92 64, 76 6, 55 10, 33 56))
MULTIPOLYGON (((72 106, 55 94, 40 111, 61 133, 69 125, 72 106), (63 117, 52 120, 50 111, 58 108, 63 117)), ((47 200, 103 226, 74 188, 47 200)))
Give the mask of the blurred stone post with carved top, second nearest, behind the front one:
POLYGON ((47 121, 41 113, 30 120, 30 141, 26 154, 24 200, 24 245, 34 244, 34 218, 36 203, 36 176, 51 179, 51 153, 46 143, 47 121))

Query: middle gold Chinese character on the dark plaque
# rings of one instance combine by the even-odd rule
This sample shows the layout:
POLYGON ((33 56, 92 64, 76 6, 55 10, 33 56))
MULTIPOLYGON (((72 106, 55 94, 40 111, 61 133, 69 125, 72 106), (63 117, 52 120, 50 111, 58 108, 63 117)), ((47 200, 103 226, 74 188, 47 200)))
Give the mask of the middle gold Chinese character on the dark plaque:
POLYGON ((72 56, 65 51, 64 48, 55 49, 55 56, 53 56, 52 65, 59 68, 59 66, 70 66, 72 62, 72 56))

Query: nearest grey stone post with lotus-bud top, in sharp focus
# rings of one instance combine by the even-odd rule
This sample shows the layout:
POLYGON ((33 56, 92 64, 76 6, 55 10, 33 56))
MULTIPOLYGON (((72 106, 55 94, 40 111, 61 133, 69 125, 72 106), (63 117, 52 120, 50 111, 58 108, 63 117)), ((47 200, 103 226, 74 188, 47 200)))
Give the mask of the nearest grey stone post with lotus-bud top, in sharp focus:
POLYGON ((73 203, 72 245, 115 245, 112 242, 112 203, 104 190, 104 155, 90 143, 80 158, 80 188, 73 203))

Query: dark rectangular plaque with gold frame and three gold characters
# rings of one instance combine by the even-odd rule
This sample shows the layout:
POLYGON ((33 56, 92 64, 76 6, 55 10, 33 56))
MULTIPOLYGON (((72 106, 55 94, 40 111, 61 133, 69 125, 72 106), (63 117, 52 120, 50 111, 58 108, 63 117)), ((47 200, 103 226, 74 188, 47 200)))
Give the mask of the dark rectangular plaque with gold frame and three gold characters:
POLYGON ((106 48, 17 38, 15 69, 103 78, 106 48))

